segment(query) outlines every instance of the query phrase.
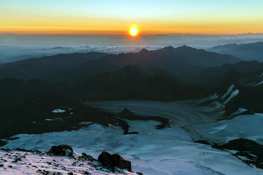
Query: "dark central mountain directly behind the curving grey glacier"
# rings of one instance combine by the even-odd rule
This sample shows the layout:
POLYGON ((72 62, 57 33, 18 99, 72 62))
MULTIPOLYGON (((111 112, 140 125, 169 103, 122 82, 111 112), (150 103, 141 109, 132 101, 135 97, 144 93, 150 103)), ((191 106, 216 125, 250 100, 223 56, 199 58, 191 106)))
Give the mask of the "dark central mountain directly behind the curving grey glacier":
POLYGON ((67 91, 70 91, 74 97, 89 100, 139 98, 169 101, 203 95, 202 90, 180 85, 162 75, 149 76, 146 72, 133 66, 85 77, 67 91), (186 87, 194 93, 184 91, 186 87))

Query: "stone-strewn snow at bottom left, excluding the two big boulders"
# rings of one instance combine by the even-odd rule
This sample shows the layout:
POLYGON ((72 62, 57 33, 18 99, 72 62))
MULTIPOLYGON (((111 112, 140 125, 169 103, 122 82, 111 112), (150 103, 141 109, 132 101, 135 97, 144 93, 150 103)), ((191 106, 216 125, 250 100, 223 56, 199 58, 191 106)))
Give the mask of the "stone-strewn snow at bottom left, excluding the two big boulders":
MULTIPOLYGON (((80 154, 81 156, 81 154, 80 154)), ((84 157, 51 156, 45 152, 0 150, 0 174, 44 174, 44 175, 138 175, 115 167, 115 171, 101 166, 97 160, 84 157)))

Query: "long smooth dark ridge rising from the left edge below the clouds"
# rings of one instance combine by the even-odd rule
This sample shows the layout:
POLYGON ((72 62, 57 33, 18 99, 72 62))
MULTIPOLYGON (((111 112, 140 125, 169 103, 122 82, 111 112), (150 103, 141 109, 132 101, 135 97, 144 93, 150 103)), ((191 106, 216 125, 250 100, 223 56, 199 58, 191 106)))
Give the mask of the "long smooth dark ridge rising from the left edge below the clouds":
POLYGON ((88 60, 94 60, 105 55, 108 54, 96 52, 58 54, 41 58, 28 58, 13 63, 1 64, 0 79, 32 79, 55 69, 65 69, 71 66, 77 66, 87 62, 88 60))

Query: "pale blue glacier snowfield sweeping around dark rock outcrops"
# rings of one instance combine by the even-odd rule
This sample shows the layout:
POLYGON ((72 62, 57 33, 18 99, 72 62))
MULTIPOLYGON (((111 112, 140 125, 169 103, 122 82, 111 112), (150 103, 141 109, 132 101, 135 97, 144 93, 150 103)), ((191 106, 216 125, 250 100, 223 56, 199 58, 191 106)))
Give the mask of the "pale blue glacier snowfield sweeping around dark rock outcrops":
POLYGON ((139 115, 160 115, 169 119, 170 127, 156 129, 155 125, 160 122, 153 120, 126 120, 129 132, 139 134, 123 135, 120 127, 91 124, 78 131, 23 135, 4 147, 48 151, 53 145, 67 144, 77 153, 83 152, 94 158, 105 150, 131 161, 132 170, 144 175, 262 174, 262 169, 245 164, 229 152, 194 143, 199 139, 225 143, 242 137, 260 141, 263 138, 260 134, 263 132, 261 115, 253 120, 250 118, 255 115, 242 115, 219 122, 216 116, 220 113, 213 112, 214 109, 208 106, 189 104, 193 102, 93 102, 92 106, 111 112, 120 112, 125 106, 139 115))

